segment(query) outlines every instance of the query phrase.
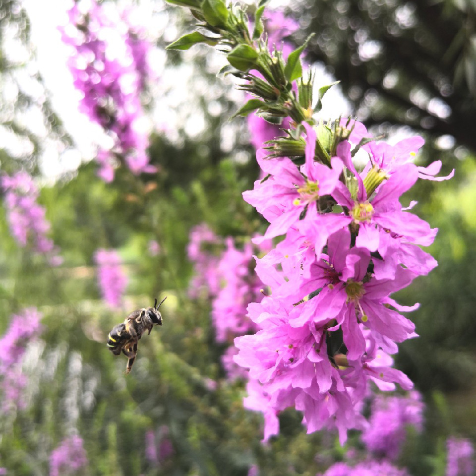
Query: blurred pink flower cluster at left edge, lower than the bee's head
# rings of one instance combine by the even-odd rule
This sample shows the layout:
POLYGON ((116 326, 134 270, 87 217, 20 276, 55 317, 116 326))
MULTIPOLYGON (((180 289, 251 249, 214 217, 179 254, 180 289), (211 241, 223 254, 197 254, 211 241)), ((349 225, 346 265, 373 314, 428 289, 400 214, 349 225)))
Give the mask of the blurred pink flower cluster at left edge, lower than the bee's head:
POLYGON ((23 309, 21 313, 12 315, 8 329, 0 339, 1 408, 4 412, 14 406, 26 407, 21 396, 28 378, 21 371, 22 357, 27 344, 41 330, 41 318, 36 308, 23 309))

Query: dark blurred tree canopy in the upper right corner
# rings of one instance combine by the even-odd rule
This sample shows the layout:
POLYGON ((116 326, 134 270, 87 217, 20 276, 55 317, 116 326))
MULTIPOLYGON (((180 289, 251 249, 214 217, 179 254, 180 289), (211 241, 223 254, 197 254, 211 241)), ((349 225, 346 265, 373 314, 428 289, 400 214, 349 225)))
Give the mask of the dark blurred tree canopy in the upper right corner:
POLYGON ((300 44, 341 80, 367 126, 408 125, 476 149, 475 4, 467 0, 298 1, 300 44))

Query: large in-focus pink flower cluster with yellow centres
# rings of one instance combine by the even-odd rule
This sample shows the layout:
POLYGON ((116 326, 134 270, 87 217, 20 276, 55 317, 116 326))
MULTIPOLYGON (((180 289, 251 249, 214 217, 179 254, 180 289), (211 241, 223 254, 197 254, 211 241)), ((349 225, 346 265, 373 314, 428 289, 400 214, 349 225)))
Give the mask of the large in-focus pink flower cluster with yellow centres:
POLYGON ((284 238, 257 260, 271 295, 249 304, 259 330, 235 339, 235 361, 249 369, 248 408, 267 402, 265 439, 278 432, 276 415, 294 406, 307 432, 337 427, 343 442, 348 428, 366 426, 360 409, 369 381, 381 390, 413 386, 390 355, 416 336, 400 312, 417 305, 390 294, 436 266, 419 245, 437 230, 399 199, 419 177, 435 179, 441 163, 416 166, 423 139, 413 137, 363 145, 370 160, 357 172, 353 145, 369 136, 363 124, 302 127, 304 164, 259 150, 265 179, 243 193, 270 223, 253 241, 284 238), (323 142, 335 153, 324 153, 323 142))

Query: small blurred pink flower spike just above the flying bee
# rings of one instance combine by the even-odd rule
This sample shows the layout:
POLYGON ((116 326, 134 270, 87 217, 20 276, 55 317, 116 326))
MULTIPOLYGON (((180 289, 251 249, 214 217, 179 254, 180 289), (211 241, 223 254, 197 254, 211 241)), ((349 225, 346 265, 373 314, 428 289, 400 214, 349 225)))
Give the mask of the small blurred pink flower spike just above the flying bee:
POLYGON ((111 307, 119 307, 127 286, 127 277, 121 269, 121 259, 114 249, 98 249, 94 256, 98 266, 98 284, 101 296, 111 307))

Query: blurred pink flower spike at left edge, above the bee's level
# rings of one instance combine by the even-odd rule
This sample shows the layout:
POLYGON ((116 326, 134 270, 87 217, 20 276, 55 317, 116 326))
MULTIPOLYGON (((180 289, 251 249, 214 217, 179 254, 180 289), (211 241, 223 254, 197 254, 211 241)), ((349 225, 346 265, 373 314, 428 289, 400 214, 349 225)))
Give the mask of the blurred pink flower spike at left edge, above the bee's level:
POLYGON ((47 254, 50 264, 57 266, 61 257, 57 254, 53 240, 48 238, 50 223, 45 218, 45 208, 37 203, 38 187, 25 171, 1 177, 1 188, 5 193, 10 231, 17 243, 31 246, 34 252, 47 254))

